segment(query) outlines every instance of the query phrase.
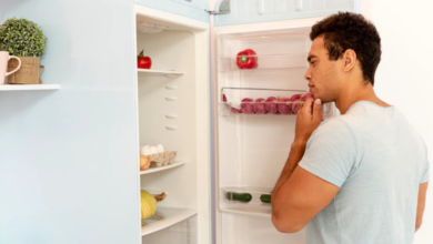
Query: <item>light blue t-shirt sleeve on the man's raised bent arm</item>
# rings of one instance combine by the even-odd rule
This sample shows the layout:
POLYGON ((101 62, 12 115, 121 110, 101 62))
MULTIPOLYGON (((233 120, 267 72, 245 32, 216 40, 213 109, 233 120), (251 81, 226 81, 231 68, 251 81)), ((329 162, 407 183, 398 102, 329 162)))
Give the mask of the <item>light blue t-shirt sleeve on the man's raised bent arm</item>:
POLYGON ((356 167, 358 149, 346 122, 330 119, 311 135, 299 166, 341 187, 356 167))

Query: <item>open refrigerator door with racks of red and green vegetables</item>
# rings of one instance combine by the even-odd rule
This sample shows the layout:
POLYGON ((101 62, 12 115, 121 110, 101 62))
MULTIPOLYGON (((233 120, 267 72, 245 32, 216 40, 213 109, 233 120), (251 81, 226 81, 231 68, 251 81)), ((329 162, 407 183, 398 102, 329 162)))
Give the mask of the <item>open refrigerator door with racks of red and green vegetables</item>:
MULTIPOLYGON (((215 28, 216 243, 305 243, 279 233, 271 191, 308 91, 309 33, 319 18, 215 28)), ((324 118, 338 114, 323 105, 324 118)))

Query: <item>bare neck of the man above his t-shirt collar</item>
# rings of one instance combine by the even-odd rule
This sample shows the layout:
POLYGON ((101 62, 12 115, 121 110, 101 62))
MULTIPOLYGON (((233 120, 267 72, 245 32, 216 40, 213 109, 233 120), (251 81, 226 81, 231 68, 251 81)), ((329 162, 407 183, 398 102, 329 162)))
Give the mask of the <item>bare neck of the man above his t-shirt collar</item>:
MULTIPOLYGON (((353 83, 348 82, 348 84, 353 83)), ((380 106, 390 106, 390 104, 383 102, 377 98, 374 92, 373 85, 370 82, 367 84, 356 82, 356 85, 348 85, 342 88, 342 90, 340 91, 340 95, 335 100, 335 105, 340 110, 340 113, 344 114, 348 112, 349 108, 352 104, 359 101, 369 101, 380 106)))

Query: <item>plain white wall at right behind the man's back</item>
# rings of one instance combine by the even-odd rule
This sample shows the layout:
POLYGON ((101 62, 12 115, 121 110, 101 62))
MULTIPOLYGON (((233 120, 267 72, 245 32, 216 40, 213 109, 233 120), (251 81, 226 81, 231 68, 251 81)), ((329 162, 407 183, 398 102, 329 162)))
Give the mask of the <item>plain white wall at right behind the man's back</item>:
MULTIPOLYGON (((433 91, 433 2, 374 0, 370 4, 371 20, 382 38, 376 93, 396 105, 423 135, 433 163, 433 114, 429 101, 433 91)), ((415 244, 433 242, 432 187, 415 244)))

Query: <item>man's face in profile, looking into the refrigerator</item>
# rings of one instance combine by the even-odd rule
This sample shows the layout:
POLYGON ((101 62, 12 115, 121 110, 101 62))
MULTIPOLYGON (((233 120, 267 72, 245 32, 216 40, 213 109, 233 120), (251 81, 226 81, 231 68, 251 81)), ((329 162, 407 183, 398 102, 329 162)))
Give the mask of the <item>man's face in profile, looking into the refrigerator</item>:
POLYGON ((308 60, 310 67, 304 78, 309 81, 310 91, 323 103, 334 101, 341 84, 339 72, 341 60, 331 61, 329 59, 323 35, 314 39, 308 60))

